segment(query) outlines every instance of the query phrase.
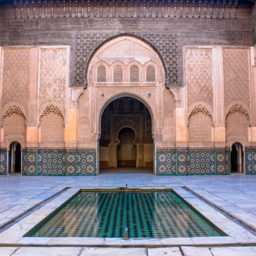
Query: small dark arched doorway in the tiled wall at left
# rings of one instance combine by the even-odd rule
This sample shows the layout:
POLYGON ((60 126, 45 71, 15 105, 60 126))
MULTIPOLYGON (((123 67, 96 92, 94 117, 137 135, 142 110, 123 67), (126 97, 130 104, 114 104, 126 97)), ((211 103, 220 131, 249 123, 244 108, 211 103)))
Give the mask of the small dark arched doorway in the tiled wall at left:
POLYGON ((8 170, 8 173, 21 174, 21 146, 17 141, 10 144, 8 170))

